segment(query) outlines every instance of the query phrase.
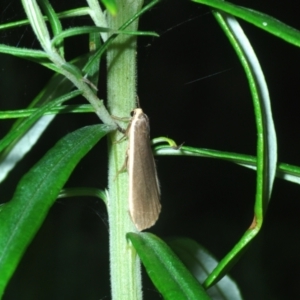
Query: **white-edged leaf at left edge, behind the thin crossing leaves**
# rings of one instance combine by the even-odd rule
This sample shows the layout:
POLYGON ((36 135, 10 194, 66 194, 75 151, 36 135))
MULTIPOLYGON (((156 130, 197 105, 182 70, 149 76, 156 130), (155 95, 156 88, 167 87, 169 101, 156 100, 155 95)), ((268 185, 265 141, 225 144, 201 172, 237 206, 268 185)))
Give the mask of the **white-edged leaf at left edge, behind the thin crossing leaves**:
MULTIPOLYGON (((72 63, 80 68, 86 60, 87 56, 83 55, 72 60, 72 63)), ((31 149, 44 129, 47 128, 55 117, 55 115, 52 115, 52 118, 42 117, 39 119, 39 116, 41 117, 49 111, 59 110, 61 101, 66 101, 81 94, 79 91, 74 91, 65 95, 72 87, 73 83, 65 76, 55 74, 28 106, 29 109, 38 107, 40 113, 36 109, 32 112, 33 114, 30 118, 16 121, 10 132, 0 141, 0 182, 6 178, 8 172, 31 149), (58 98, 60 96, 62 98, 58 98), (49 104, 49 102, 52 104, 49 104), (49 105, 48 109, 45 107, 47 103, 49 105)))

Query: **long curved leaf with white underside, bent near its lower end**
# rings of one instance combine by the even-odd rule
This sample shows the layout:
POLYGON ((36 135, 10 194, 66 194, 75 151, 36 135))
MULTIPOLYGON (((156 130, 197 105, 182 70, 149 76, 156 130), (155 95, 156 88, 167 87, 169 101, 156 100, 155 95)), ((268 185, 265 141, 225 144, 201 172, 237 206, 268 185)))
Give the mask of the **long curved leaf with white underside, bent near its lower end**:
POLYGON ((214 285, 229 272, 260 231, 271 197, 277 167, 276 132, 268 87, 259 61, 236 19, 221 12, 214 12, 214 15, 236 51, 248 79, 257 129, 257 172, 253 221, 240 240, 205 280, 203 283, 205 288, 214 285))

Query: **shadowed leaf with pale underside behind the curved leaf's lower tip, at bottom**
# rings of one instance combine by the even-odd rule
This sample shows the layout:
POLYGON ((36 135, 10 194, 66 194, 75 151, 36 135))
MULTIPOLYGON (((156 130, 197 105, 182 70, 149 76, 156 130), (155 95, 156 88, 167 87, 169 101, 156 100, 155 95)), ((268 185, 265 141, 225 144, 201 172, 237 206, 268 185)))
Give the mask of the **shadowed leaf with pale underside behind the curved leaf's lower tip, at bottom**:
MULTIPOLYGON (((173 238, 167 243, 200 283, 204 282, 218 264, 218 261, 204 247, 192 239, 173 238)), ((224 276, 209 288, 207 294, 214 300, 242 299, 238 286, 229 276, 224 276)))

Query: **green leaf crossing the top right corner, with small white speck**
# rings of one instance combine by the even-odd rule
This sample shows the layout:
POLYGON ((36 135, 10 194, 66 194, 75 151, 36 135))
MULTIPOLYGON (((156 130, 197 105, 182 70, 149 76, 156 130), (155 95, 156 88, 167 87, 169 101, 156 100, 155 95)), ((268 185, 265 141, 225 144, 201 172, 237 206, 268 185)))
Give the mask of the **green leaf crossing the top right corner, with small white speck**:
POLYGON ((295 45, 300 46, 300 31, 284 24, 283 22, 259 11, 225 2, 223 0, 192 0, 193 2, 220 9, 235 17, 239 17, 275 36, 295 45))

